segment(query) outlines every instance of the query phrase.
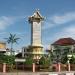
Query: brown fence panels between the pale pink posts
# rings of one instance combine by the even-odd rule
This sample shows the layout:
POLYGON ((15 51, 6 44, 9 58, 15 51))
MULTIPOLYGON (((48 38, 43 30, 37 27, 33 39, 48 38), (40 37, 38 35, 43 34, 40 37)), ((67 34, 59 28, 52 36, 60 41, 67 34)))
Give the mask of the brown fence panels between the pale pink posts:
MULTIPOLYGON (((70 65, 71 71, 75 71, 75 64, 70 65)), ((68 71, 68 64, 60 64, 60 71, 68 71)), ((32 72, 32 65, 13 65, 13 71, 31 71, 32 72)), ((35 66, 36 72, 58 72, 58 64, 53 64, 50 66, 44 66, 44 65, 36 65, 35 66)), ((3 64, 0 64, 0 72, 3 71, 3 64)), ((6 71, 9 72, 10 65, 7 65, 6 71)))

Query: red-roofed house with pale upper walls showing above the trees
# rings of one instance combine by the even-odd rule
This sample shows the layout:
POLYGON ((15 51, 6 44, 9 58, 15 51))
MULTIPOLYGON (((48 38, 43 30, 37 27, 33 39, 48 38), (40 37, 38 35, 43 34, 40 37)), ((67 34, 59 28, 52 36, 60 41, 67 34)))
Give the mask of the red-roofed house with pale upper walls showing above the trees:
POLYGON ((61 49, 64 47, 69 47, 71 50, 73 50, 75 47, 75 40, 72 38, 61 38, 51 44, 51 46, 52 50, 54 50, 56 46, 62 47, 61 49))

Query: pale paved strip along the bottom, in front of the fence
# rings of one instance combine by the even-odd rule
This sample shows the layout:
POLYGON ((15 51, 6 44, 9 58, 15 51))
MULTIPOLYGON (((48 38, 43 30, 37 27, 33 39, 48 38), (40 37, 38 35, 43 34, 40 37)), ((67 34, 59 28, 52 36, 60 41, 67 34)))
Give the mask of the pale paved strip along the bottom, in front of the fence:
POLYGON ((15 73, 0 73, 0 75, 74 75, 75 71, 70 72, 15 72, 15 73))

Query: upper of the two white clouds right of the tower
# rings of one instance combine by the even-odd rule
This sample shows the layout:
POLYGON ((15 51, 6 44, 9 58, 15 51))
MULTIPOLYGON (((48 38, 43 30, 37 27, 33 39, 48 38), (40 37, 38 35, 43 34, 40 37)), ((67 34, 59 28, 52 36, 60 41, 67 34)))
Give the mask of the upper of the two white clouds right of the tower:
POLYGON ((70 12, 59 16, 55 15, 52 17, 52 21, 55 24, 64 24, 73 20, 75 20, 75 12, 70 12))

